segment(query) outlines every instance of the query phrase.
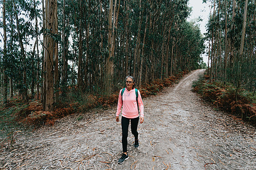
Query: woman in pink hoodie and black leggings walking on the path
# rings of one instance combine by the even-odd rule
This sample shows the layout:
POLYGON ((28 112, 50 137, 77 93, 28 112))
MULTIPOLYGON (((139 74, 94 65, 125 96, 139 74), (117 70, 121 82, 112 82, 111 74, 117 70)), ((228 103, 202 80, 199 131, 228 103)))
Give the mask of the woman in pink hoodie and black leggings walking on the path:
POLYGON ((115 120, 119 121, 119 114, 121 113, 122 109, 122 146, 123 146, 123 154, 121 158, 118 160, 119 164, 122 164, 126 159, 129 158, 127 154, 127 137, 128 137, 128 128, 129 128, 129 122, 131 120, 131 133, 134 135, 134 147, 139 147, 139 139, 138 139, 138 122, 141 122, 141 124, 144 121, 144 107, 143 102, 141 99, 141 94, 138 91, 138 95, 135 92, 134 88, 134 77, 133 76, 127 76, 126 77, 126 88, 125 90, 121 89, 119 92, 118 97, 118 105, 117 105, 117 113, 115 120), (123 93, 122 93, 123 91, 123 93), (136 95, 138 96, 138 100, 136 99, 136 95), (138 103, 137 103, 138 102, 138 103), (138 110, 139 109, 139 110, 138 110), (141 117, 139 117, 139 111, 141 112, 141 117))

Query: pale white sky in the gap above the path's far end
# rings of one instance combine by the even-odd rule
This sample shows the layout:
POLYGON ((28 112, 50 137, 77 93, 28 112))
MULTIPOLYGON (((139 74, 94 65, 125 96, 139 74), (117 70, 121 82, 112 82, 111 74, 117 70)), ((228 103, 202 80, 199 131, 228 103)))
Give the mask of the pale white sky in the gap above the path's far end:
MULTIPOLYGON (((203 0, 189 0, 189 7, 192 7, 191 16, 189 16, 188 21, 191 21, 196 18, 201 18, 203 21, 199 22, 201 33, 204 34, 206 32, 206 24, 208 22, 210 7, 209 3, 203 3, 203 0)), ((208 62, 207 54, 202 54, 203 61, 205 63, 208 62)))

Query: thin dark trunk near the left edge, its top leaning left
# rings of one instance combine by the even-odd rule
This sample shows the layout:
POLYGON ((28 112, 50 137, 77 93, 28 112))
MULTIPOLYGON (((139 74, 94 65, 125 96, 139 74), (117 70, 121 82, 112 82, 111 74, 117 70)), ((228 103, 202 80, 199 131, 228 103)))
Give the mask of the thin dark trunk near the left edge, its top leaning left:
POLYGON ((15 2, 13 1, 13 6, 14 6, 14 11, 15 11, 15 18, 16 18, 16 29, 18 32, 18 37, 19 37, 19 45, 22 53, 22 63, 23 63, 23 91, 22 91, 22 96, 23 100, 27 103, 28 102, 28 95, 27 95, 27 73, 26 73, 26 54, 24 50, 24 45, 22 42, 22 35, 20 34, 19 30, 19 18, 18 18, 18 12, 16 9, 15 2))

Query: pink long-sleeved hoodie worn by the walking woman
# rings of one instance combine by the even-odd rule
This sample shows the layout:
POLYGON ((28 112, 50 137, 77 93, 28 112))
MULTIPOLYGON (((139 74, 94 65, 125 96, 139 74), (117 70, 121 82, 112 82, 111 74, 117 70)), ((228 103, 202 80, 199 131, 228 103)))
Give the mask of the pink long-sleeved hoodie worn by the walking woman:
MULTIPOLYGON (((119 92, 118 97, 118 105, 117 105, 117 114, 116 116, 119 116, 122 109, 122 116, 126 118, 136 118, 139 116, 138 113, 138 106, 136 101, 136 94, 135 94, 135 88, 133 90, 128 91, 127 88, 125 88, 125 92, 123 92, 123 101, 122 101, 122 89, 119 92)), ((139 112, 141 113, 141 117, 144 117, 144 105, 141 99, 141 93, 138 90, 138 104, 139 104, 139 112)))

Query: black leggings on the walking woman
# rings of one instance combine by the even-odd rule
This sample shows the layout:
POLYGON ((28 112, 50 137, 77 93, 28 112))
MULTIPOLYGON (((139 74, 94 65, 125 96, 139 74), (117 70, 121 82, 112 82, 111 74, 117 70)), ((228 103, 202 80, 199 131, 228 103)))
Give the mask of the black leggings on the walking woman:
POLYGON ((127 137, 128 137, 128 128, 129 122, 131 120, 131 133, 133 133, 135 139, 138 139, 138 122, 139 117, 137 118, 126 118, 122 116, 121 125, 122 125, 122 145, 123 145, 123 152, 127 152, 127 137))

